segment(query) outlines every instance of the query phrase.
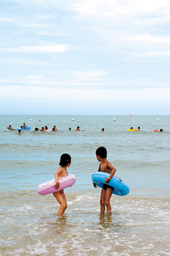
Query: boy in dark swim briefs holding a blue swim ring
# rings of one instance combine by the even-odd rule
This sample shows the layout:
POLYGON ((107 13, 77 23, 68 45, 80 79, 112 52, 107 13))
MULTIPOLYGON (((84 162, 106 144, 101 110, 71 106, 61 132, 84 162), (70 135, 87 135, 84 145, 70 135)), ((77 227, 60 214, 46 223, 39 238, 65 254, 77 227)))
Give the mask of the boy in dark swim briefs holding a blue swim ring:
MULTIPOLYGON (((107 208, 107 213, 111 213, 111 205, 110 205, 110 198, 112 196, 114 188, 111 187, 109 184, 109 181, 113 177, 113 175, 116 172, 116 168, 112 166, 111 162, 107 160, 107 150, 104 147, 100 147, 96 150, 96 158, 100 163, 99 170, 107 172, 110 174, 110 177, 106 178, 104 181, 105 184, 103 184, 101 195, 100 195, 100 213, 105 212, 105 205, 107 208)), ((96 188, 96 184, 93 183, 93 186, 96 188)))

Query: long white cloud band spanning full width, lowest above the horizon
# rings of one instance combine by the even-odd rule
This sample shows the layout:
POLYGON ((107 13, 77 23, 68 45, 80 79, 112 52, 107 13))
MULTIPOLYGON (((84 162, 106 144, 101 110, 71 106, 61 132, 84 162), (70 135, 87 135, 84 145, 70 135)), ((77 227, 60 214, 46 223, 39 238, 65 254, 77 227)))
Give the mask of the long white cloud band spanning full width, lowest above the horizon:
POLYGON ((170 89, 61 89, 41 86, 0 86, 1 95, 6 97, 60 98, 84 101, 141 102, 145 100, 170 100, 170 89))

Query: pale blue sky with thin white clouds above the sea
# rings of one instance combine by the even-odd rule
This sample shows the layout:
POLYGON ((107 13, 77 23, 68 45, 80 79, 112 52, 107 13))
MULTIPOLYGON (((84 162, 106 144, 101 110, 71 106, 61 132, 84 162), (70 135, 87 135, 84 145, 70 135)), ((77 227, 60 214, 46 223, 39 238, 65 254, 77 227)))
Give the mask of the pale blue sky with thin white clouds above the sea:
POLYGON ((1 0, 0 114, 168 115, 170 1, 1 0))

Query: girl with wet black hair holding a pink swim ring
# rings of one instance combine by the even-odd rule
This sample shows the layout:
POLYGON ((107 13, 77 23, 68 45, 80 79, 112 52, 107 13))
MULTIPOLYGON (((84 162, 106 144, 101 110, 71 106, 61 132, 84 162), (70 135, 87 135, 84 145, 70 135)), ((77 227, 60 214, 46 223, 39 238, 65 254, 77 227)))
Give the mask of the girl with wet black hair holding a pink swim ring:
MULTIPOLYGON (((56 184, 53 186, 54 189, 58 189, 60 187, 58 177, 64 177, 68 174, 67 167, 70 167, 71 164, 71 157, 69 154, 62 154, 60 158, 60 167, 54 173, 54 178, 56 180, 56 184)), ((58 203, 60 204, 60 208, 58 209, 57 215, 62 215, 67 208, 67 201, 66 196, 64 194, 64 190, 59 190, 53 193, 53 196, 57 199, 58 203)))

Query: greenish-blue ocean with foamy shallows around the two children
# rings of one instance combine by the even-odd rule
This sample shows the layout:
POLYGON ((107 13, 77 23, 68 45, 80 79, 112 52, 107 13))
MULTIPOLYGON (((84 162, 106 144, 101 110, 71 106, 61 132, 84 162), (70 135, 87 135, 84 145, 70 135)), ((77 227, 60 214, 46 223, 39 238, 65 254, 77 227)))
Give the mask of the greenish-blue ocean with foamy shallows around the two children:
POLYGON ((0 255, 170 255, 170 116, 1 117, 0 255), (58 130, 18 135, 6 129, 23 122, 32 130, 58 130), (140 132, 127 131, 138 126, 140 132), (130 187, 130 194, 112 196, 112 214, 100 214, 101 189, 91 181, 100 146, 130 187), (63 153, 70 154, 67 171, 77 180, 65 189, 68 208, 57 216, 53 194, 40 196, 36 189, 54 178, 63 153))

